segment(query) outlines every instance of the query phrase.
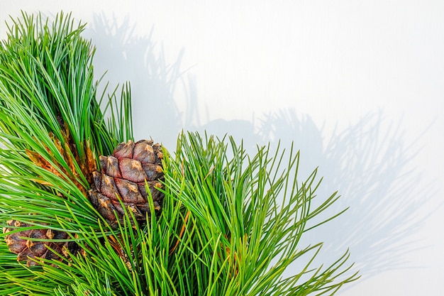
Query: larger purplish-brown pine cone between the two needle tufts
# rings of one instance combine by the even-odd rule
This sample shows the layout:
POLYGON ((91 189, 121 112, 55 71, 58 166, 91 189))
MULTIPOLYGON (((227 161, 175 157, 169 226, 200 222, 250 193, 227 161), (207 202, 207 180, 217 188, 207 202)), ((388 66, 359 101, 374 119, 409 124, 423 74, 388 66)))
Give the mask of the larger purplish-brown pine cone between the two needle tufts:
POLYGON ((130 209, 138 221, 150 215, 145 182, 155 210, 160 211, 163 194, 157 188, 162 187, 162 158, 160 145, 148 140, 120 143, 112 156, 100 156, 101 172, 94 172, 95 188, 89 190, 89 198, 111 226, 117 223, 114 212, 123 221, 123 207, 130 209))

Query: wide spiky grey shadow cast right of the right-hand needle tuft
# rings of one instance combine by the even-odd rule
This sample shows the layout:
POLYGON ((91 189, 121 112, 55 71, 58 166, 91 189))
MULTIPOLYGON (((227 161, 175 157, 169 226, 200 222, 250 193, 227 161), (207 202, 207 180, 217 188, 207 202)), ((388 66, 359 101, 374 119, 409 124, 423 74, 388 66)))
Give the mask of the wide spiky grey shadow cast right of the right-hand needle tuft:
MULTIPOLYGON (((318 176, 323 177, 318 202, 335 190, 341 195, 317 222, 349 207, 333 221, 308 231, 301 247, 324 242, 313 266, 332 263, 350 248, 353 270, 370 278, 387 270, 419 267, 406 257, 418 247, 412 240, 421 231, 427 217, 425 200, 433 193, 417 187, 421 174, 411 168, 415 152, 404 143, 399 126, 387 128, 384 121, 382 112, 369 114, 333 133, 329 141, 309 116, 297 116, 292 110, 266 115, 255 133, 248 121, 221 119, 197 129, 243 138, 245 147, 250 148, 267 141, 272 146, 280 141, 282 147, 289 148, 294 142, 301 150, 301 181, 317 167, 318 176)), ((419 243, 419 247, 426 246, 419 243)))

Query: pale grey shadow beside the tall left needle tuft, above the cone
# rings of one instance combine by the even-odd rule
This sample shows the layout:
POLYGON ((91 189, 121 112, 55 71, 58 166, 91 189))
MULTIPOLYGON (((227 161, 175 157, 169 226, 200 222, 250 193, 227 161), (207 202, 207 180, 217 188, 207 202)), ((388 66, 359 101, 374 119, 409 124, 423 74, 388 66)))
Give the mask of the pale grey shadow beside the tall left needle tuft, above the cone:
MULTIPOLYGON (((108 92, 126 81, 131 83, 135 135, 162 141, 164 135, 176 137, 182 128, 182 117, 174 102, 174 92, 182 85, 180 72, 183 50, 172 64, 167 63, 162 46, 152 41, 152 31, 140 37, 129 17, 123 21, 95 14, 87 31, 96 44, 96 77, 104 72, 108 92), (160 48, 160 49, 159 49, 160 48)), ((102 87, 104 87, 105 83, 102 87)))

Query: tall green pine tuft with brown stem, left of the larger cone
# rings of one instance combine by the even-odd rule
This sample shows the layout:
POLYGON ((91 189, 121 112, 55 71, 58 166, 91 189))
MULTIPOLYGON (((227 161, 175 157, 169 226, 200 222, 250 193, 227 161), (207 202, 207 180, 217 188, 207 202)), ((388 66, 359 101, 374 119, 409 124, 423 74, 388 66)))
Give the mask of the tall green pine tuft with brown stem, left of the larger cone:
MULTIPOLYGON (((77 222, 99 231, 101 217, 87 198, 98 156, 132 138, 131 94, 127 87, 120 100, 109 97, 109 108, 120 109, 107 123, 96 100, 95 49, 81 36, 85 25, 64 13, 52 22, 22 13, 11 23, 0 45, 0 223, 9 234, 18 231, 6 224, 13 219, 79 241, 77 222)), ((60 285, 18 264, 3 239, 0 248, 2 290, 50 295, 60 285)))

